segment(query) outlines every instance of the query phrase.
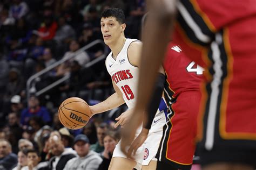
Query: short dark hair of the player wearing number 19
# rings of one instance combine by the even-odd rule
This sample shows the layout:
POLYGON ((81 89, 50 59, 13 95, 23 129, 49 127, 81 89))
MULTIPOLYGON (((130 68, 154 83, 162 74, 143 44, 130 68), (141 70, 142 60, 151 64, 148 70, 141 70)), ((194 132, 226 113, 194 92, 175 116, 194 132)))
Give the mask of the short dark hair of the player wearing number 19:
POLYGON ((102 11, 101 18, 107 18, 107 17, 116 18, 118 23, 120 23, 120 24, 124 24, 124 22, 125 22, 124 11, 119 8, 107 8, 104 11, 102 11))

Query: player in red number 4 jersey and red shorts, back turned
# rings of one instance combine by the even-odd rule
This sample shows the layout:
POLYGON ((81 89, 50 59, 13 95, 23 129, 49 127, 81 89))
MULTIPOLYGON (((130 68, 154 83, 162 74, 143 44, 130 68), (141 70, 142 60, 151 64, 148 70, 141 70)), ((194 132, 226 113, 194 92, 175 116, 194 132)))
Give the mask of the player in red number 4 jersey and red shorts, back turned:
MULTIPOLYGON (((157 169, 191 169, 196 150, 194 141, 197 136, 203 68, 187 58, 182 49, 173 42, 167 46, 163 67, 165 75, 161 83, 164 86, 169 112, 158 148, 157 169)), ((152 116, 148 117, 151 120, 152 116)), ((129 156, 136 151, 138 141, 142 140, 138 138, 133 141, 128 152, 129 156)))

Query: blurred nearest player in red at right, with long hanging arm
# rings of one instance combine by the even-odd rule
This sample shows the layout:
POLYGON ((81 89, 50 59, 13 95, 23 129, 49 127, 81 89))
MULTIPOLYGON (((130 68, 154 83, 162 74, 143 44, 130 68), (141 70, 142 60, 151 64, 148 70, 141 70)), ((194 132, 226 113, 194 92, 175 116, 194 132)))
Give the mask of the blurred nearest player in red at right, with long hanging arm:
MULTIPOLYGON (((255 1, 149 2, 151 15, 144 35, 150 36, 143 39, 139 96, 133 115, 137 123, 130 122, 126 127, 129 134, 134 133, 132 129, 142 121, 138 111, 142 112, 149 101, 154 77, 172 36, 188 57, 207 68, 198 119, 203 168, 254 169, 256 93, 252 91, 256 91, 256 30, 252 24, 256 23, 255 1)), ((122 149, 127 145, 123 140, 122 149)))

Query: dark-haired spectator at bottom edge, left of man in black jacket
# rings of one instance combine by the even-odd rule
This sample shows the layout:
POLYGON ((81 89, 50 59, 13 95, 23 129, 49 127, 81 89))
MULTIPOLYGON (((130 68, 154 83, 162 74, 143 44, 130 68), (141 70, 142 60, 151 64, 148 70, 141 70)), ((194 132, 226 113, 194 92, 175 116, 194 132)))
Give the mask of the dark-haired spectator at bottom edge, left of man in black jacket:
POLYGON ((43 170, 48 167, 47 162, 41 162, 41 157, 36 150, 28 150, 28 165, 22 168, 22 170, 43 170))

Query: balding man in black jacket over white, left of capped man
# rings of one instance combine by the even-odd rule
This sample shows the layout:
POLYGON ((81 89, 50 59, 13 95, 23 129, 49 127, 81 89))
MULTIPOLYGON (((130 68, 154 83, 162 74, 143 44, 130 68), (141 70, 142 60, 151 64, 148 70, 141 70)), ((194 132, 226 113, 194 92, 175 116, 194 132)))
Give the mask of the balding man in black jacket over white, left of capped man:
POLYGON ((76 152, 72 148, 65 148, 62 139, 53 134, 49 138, 50 150, 55 157, 49 160, 50 169, 62 170, 66 162, 76 157, 76 152))

